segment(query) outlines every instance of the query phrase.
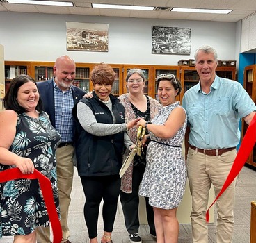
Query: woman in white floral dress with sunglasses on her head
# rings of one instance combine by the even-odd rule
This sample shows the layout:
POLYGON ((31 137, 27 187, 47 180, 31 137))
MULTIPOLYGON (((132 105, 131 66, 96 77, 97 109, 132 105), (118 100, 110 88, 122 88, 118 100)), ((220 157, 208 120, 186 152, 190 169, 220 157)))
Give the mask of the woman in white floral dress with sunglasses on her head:
POLYGON ((186 185, 186 165, 182 156, 186 112, 175 101, 181 89, 173 74, 159 75, 157 90, 163 107, 152 123, 138 121, 138 126, 147 128, 151 139, 139 194, 147 196, 154 208, 157 243, 177 242, 179 235, 176 214, 186 185))

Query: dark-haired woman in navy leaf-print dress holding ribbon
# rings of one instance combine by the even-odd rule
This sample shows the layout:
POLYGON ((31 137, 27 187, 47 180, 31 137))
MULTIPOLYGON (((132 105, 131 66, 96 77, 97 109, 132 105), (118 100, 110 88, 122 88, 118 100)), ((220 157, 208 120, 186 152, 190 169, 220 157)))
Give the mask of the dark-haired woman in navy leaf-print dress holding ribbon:
MULTIPOLYGON (((0 113, 0 171, 13 167, 22 174, 38 169, 51 181, 56 211, 56 148, 61 139, 42 112, 38 88, 30 76, 13 78, 0 113)), ((38 180, 0 183, 0 237, 13 235, 15 243, 35 243, 37 226, 49 226, 38 180)))

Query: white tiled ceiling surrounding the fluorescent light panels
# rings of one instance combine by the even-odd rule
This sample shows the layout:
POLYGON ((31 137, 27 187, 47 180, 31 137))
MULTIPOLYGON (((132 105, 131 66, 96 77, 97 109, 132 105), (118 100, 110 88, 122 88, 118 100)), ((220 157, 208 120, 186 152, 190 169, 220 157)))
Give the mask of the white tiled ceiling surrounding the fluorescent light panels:
MULTIPOLYGON (((61 1, 61 0, 56 0, 61 1)), ((29 4, 10 4, 0 3, 0 11, 10 12, 40 12, 51 14, 72 14, 72 15, 95 15, 113 17, 134 17, 151 19, 189 19, 189 20, 211 20, 221 22, 237 22, 256 12, 255 0, 65 0, 72 1, 75 7, 56 7, 56 6, 33 6, 29 4), (139 6, 159 6, 177 8, 214 8, 232 9, 229 15, 209 15, 193 14, 186 12, 167 12, 167 11, 138 11, 138 10, 110 10, 91 8, 91 3, 111 3, 139 6)))

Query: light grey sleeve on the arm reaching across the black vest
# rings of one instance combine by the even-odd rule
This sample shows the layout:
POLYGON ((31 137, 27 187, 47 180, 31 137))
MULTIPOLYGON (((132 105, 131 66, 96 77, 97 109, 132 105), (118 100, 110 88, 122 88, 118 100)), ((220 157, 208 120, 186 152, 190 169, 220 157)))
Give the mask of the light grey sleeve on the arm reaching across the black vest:
POLYGON ((103 124, 97 123, 93 111, 82 102, 77 104, 77 119, 83 129, 95 136, 106 136, 115 133, 122 133, 127 130, 125 123, 122 124, 103 124), (85 115, 86 114, 86 115, 85 115))

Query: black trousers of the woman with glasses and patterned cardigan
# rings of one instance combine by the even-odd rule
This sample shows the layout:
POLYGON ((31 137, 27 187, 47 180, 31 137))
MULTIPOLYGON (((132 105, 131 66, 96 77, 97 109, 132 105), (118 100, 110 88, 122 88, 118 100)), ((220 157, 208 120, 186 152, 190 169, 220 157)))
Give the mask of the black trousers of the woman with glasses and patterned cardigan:
MULTIPOLYGON (((132 192, 125 193, 121 191, 120 200, 122 203, 122 211, 125 216, 125 226, 129 234, 138 233, 138 227, 140 226, 138 221, 138 188, 141 184, 145 168, 134 166, 132 174, 132 192)), ((146 211, 147 211, 147 223, 150 226, 150 234, 156 235, 154 228, 154 211, 152 206, 148 203, 148 198, 145 197, 146 211)))

